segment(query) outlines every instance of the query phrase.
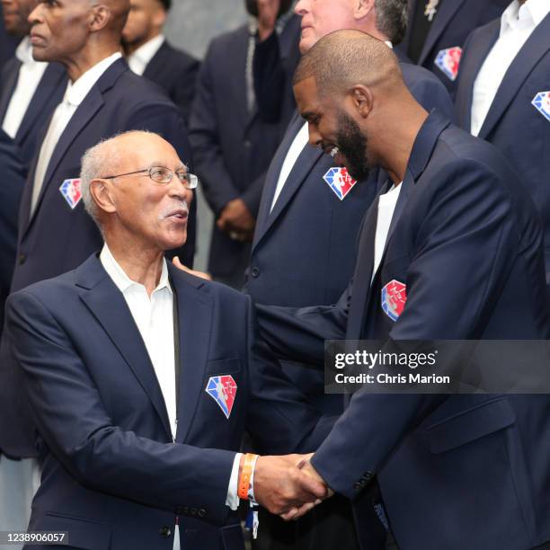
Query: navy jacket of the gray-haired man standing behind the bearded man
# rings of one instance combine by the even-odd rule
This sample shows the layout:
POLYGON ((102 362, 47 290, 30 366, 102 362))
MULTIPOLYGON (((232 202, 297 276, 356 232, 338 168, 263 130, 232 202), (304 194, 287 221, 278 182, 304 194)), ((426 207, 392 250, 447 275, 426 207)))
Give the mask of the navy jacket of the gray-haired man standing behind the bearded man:
MULTIPOLYGON (((417 101, 427 110, 438 107, 450 114, 447 90, 434 75, 410 63, 401 67, 417 101)), ((368 182, 359 182, 340 200, 323 179, 334 166, 333 158, 306 146, 270 213, 281 166, 304 123, 296 113, 273 157, 263 189, 244 287, 261 304, 313 306, 338 299, 353 272, 361 219, 377 193, 378 178, 384 179, 373 173, 368 182)), ((334 399, 324 395, 322 372, 288 363, 285 371, 324 411, 334 411, 334 399)), ((342 408, 340 400, 336 406, 342 408)))

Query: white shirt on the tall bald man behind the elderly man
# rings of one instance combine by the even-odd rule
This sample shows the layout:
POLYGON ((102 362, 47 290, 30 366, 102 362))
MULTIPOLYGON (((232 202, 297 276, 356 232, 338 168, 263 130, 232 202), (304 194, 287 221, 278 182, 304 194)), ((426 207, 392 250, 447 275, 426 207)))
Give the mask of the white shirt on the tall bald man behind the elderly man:
MULTIPOLYGON (((80 103, 84 102, 84 98, 88 95, 88 93, 90 93, 90 90, 92 90, 93 85, 100 79, 102 74, 121 57, 122 54, 120 51, 117 51, 108 58, 102 59, 102 61, 94 65, 92 68, 88 69, 84 75, 81 75, 75 82, 69 82, 67 84, 67 91, 65 92, 63 101, 58 104, 58 107, 54 111, 51 120, 49 121, 48 133, 46 134, 46 137, 42 142, 42 146, 40 147, 40 155, 36 166, 36 171, 34 173, 34 182, 32 187, 31 214, 34 212, 34 208, 36 207, 40 190, 42 189, 42 184, 44 182, 44 176, 48 170, 49 160, 58 145, 59 137, 61 137, 67 128, 68 123, 72 119, 80 103)), ((75 174, 75 176, 76 175, 77 174, 75 174)))

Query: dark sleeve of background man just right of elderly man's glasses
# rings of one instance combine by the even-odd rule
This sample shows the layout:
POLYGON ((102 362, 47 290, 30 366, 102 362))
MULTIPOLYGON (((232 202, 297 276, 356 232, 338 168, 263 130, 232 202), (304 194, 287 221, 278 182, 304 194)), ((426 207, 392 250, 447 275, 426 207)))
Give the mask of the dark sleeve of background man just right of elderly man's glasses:
MULTIPOLYGON (((197 93, 191 111, 190 139, 196 161, 196 171, 210 208, 217 216, 230 200, 238 199, 222 154, 217 126, 215 84, 215 52, 208 51, 200 67, 197 93)), ((223 93, 219 91, 218 93, 223 93)))

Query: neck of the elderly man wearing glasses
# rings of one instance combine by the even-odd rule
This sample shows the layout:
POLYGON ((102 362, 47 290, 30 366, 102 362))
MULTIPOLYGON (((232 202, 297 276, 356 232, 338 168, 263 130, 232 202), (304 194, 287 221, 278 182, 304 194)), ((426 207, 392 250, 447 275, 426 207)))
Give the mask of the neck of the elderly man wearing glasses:
POLYGON ((151 297, 163 272, 164 251, 152 247, 146 248, 137 243, 123 244, 109 239, 107 235, 105 242, 129 279, 143 285, 147 295, 151 297))

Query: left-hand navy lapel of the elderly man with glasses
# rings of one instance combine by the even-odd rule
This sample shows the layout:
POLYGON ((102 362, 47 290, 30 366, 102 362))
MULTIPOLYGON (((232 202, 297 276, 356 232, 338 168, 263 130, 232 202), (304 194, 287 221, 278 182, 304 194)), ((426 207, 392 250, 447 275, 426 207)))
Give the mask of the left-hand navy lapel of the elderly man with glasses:
POLYGON ((155 369, 122 293, 95 255, 78 268, 78 276, 80 280, 77 285, 84 288, 81 299, 137 377, 155 407, 166 434, 172 439, 168 413, 155 369))

